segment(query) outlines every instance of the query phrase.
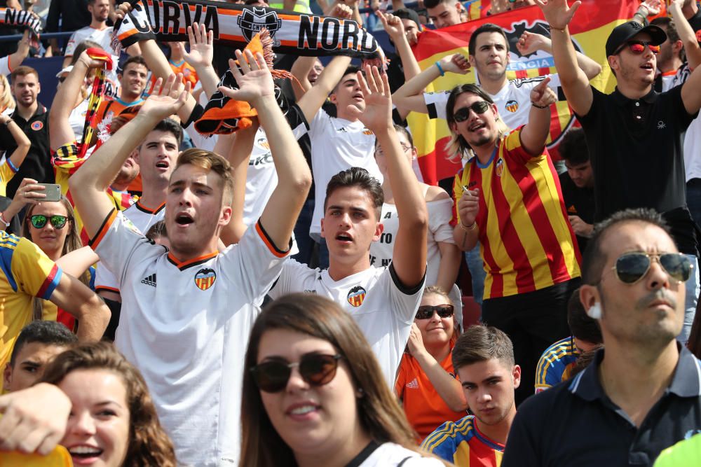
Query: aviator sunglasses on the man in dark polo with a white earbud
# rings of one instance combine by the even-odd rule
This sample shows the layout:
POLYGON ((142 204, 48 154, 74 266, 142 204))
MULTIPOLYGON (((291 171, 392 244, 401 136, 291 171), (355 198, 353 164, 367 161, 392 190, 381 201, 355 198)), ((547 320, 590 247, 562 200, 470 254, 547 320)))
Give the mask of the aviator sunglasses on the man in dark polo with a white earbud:
POLYGON ((686 282, 686 279, 691 275, 692 265, 689 259, 681 253, 662 253, 660 255, 642 252, 625 253, 615 260, 615 265, 611 269, 619 281, 625 284, 635 284, 650 270, 651 256, 659 258, 660 266, 672 279, 686 282))

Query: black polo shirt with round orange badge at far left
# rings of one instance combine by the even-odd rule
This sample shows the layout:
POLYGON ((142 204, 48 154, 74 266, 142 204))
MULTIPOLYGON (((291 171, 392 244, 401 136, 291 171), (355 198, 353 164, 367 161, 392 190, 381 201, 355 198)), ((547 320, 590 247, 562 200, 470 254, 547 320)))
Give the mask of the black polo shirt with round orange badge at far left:
MULTIPOLYGON (((48 111, 46 107, 39 104, 34 116, 29 118, 29 120, 20 117, 20 114, 15 110, 12 114, 12 119, 25 132, 32 146, 29 147, 29 153, 27 153, 25 162, 22 162, 22 165, 20 165, 19 172, 7 184, 8 197, 15 196, 15 191, 22 183, 22 179, 27 177, 39 183, 54 182, 51 149, 48 140, 48 111)), ((17 144, 12 134, 10 134, 10 130, 5 125, 0 125, 0 150, 6 151, 6 155, 9 157, 16 148, 17 144)))

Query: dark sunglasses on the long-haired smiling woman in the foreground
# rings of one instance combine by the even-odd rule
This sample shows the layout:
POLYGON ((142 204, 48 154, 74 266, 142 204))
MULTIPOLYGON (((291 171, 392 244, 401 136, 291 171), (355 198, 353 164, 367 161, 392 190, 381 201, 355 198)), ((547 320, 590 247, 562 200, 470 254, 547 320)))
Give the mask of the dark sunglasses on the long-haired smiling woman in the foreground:
POLYGON ((264 361, 251 368, 251 372, 258 389, 269 393, 280 392, 287 387, 294 367, 299 369, 299 375, 308 384, 323 386, 329 384, 336 376, 339 358, 341 358, 339 354, 306 354, 296 363, 285 363, 285 361, 278 360, 264 361))

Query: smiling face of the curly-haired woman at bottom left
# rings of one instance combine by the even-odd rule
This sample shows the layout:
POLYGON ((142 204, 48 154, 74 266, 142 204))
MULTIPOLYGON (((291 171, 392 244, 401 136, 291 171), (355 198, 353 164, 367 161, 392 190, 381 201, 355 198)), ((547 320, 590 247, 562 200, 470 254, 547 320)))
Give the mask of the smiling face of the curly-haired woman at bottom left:
POLYGON ((122 378, 109 370, 75 370, 58 387, 73 405, 61 445, 74 466, 120 467, 129 445, 129 407, 122 378))

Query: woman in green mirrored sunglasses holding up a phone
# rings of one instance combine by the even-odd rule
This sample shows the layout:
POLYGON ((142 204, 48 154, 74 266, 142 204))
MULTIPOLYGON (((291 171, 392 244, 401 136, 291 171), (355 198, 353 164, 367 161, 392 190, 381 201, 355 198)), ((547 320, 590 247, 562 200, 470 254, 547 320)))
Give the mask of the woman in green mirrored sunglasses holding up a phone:
MULTIPOLYGON (((25 179, 26 180, 26 179, 25 179)), ((22 197, 24 182, 15 198, 22 197)), ((27 186, 32 188, 32 186, 27 186)), ((38 193, 38 192, 34 192, 38 193)), ((29 200, 29 198, 25 198, 29 200)), ((73 207, 66 197, 55 202, 32 202, 27 207, 22 223, 22 237, 31 240, 46 253, 50 260, 58 263, 65 272, 80 279, 86 286, 95 289, 95 267, 100 259, 90 247, 83 247, 75 222, 73 207), (71 253, 69 256, 67 256, 71 253)), ((34 319, 59 321, 72 331, 76 320, 72 314, 59 309, 48 300, 34 298, 34 319)))

